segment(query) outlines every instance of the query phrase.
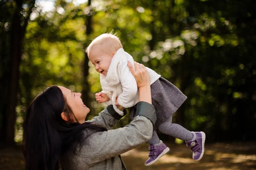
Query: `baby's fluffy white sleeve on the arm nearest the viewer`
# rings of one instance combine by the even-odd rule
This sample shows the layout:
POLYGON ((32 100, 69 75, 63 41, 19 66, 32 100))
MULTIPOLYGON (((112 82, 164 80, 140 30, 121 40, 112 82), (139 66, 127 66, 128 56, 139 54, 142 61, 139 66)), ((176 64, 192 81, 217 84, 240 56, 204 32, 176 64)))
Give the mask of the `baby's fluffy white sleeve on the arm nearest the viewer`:
POLYGON ((119 79, 122 85, 122 93, 118 96, 118 103, 125 108, 132 107, 135 104, 134 100, 138 91, 137 83, 127 66, 127 61, 119 64, 119 79))

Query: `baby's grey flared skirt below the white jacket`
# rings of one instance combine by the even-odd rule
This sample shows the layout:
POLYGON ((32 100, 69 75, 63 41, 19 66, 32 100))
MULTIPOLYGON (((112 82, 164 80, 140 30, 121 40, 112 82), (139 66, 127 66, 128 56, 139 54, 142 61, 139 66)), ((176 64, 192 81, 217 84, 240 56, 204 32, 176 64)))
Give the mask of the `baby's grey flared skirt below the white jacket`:
MULTIPOLYGON (((157 113, 157 121, 154 126, 155 129, 160 124, 170 121, 172 115, 187 98, 186 95, 180 91, 180 89, 162 77, 151 84, 151 97, 152 104, 157 113)), ((130 109, 130 117, 132 120, 135 112, 136 105, 130 109)))

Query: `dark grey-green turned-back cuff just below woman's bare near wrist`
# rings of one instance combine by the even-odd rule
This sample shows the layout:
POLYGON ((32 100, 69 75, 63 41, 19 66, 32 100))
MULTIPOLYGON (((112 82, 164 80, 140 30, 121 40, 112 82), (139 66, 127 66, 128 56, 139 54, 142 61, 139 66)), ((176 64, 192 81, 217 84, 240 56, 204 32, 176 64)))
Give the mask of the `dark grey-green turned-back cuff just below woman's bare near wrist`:
POLYGON ((156 110, 155 110, 154 106, 145 101, 140 101, 137 104, 137 110, 136 110, 135 116, 137 116, 137 115, 145 116, 146 118, 151 120, 153 125, 157 121, 157 115, 156 115, 156 110))

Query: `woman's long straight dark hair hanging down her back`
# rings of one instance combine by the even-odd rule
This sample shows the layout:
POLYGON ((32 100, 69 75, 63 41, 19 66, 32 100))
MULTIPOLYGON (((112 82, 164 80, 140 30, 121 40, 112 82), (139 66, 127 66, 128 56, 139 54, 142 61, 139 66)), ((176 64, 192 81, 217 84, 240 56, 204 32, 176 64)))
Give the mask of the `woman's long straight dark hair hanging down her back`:
POLYGON ((94 124, 79 124, 74 118, 58 86, 49 86, 31 102, 23 134, 26 170, 58 170, 61 154, 75 150, 88 137, 83 130, 104 130, 94 124), (69 121, 61 118, 61 112, 69 121))

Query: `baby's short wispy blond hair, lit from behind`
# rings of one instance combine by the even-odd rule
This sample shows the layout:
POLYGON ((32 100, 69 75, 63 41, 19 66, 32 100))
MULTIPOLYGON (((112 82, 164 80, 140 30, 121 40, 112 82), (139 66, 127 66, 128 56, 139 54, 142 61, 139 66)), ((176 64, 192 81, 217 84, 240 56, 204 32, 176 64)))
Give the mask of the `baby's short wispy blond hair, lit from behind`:
POLYGON ((106 52, 111 54, 116 52, 118 49, 122 48, 122 43, 119 40, 119 37, 116 36, 116 33, 105 33, 96 37, 90 45, 86 48, 85 52, 87 52, 88 56, 90 55, 90 51, 94 48, 98 48, 102 50, 102 52, 106 52))

